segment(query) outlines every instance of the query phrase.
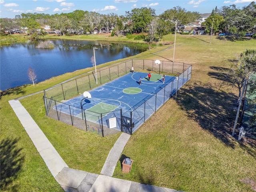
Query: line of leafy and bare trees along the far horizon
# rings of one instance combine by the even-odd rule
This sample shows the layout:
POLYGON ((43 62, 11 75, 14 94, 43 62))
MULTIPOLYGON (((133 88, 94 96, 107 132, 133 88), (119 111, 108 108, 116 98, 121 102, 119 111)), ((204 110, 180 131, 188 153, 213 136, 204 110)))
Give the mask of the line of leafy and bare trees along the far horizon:
MULTIPOLYGON (((16 15, 15 19, 1 18, 0 28, 1 35, 5 35, 6 31, 11 34, 17 28, 27 28, 32 38, 39 38, 43 30, 38 32, 38 29, 46 25, 51 30, 59 30, 66 35, 92 33, 94 29, 99 32, 104 29, 107 33, 111 30, 116 36, 122 31, 129 34, 148 33, 149 42, 153 42, 163 35, 173 33, 176 24, 182 30, 188 23, 196 21, 200 21, 198 12, 190 12, 180 6, 166 10, 158 16, 154 9, 143 7, 126 11, 121 16, 83 10, 53 15, 22 13, 16 15)), ((256 4, 251 2, 241 9, 235 5, 223 6, 220 9, 216 7, 202 26, 206 27, 206 33, 224 31, 244 36, 246 32, 256 30, 256 4)))

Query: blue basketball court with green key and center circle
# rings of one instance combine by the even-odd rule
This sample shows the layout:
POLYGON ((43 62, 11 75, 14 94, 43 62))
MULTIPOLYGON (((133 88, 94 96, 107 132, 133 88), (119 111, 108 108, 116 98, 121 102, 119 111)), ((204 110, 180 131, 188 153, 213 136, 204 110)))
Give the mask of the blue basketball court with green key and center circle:
POLYGON ((163 74, 151 74, 149 79, 148 73, 128 73, 89 90, 91 98, 85 98, 82 94, 54 108, 62 113, 85 119, 87 122, 116 130, 120 130, 120 120, 116 120, 116 126, 113 127, 110 125, 110 119, 127 116, 133 123, 132 132, 134 132, 176 92, 178 87, 183 85, 183 82, 187 81, 175 76, 165 76, 163 82, 162 76, 163 74), (141 84, 139 84, 140 77, 141 84))

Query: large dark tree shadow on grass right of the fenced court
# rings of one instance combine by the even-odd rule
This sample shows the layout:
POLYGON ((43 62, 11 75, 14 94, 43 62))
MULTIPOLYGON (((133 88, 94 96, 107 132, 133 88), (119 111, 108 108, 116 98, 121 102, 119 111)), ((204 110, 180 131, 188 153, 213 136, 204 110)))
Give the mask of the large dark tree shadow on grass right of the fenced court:
MULTIPOLYGON (((198 122, 203 129, 208 130, 227 146, 235 147, 236 142, 232 137, 237 112, 235 94, 221 91, 219 84, 202 82, 188 82, 178 94, 180 96, 177 102, 190 119, 198 122)), ((255 150, 246 147, 243 142, 239 144, 256 157, 255 150)), ((255 143, 249 144, 255 147, 255 143)))

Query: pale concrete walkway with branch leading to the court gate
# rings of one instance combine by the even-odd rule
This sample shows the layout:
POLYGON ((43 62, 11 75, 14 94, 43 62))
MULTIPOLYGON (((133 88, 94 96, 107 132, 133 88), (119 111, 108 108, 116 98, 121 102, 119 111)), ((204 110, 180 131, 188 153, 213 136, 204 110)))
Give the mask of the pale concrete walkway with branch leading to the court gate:
MULTIPOLYGON (((9 104, 34 143, 46 166, 65 192, 177 192, 177 190, 113 178, 114 169, 130 135, 122 133, 99 174, 68 168, 19 100, 9 104)), ((181 191, 178 191, 181 192, 181 191)))

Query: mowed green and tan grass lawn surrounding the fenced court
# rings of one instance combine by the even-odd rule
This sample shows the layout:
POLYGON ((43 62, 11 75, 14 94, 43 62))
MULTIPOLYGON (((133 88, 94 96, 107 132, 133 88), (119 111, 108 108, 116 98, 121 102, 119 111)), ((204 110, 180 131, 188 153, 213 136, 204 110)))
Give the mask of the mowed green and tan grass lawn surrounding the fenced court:
MULTIPOLYGON (((163 41, 174 42, 174 35, 164 36, 163 41)), ((131 136, 122 154, 134 160, 132 171, 122 173, 118 162, 113 177, 187 192, 253 191, 240 180, 256 180, 255 141, 238 142, 230 136, 238 90, 222 86, 215 67, 226 67, 228 60, 236 59, 246 48, 255 49, 256 40, 223 41, 214 36, 211 44, 209 42, 210 36, 177 35, 175 61, 192 64, 192 79, 179 90, 177 100, 169 100, 131 136)), ((155 47, 132 58, 172 60, 173 46, 155 47)), ((46 89, 84 72, 86 70, 51 78, 35 87, 15 88, 1 98, 1 167, 5 139, 14 143, 17 140, 12 146, 20 149, 20 156, 6 151, 21 165, 19 170, 12 170, 10 184, 1 191, 62 190, 8 100, 46 89)), ((42 96, 42 93, 36 94, 20 102, 70 168, 99 174, 120 134, 101 138, 48 118, 42 96)))

